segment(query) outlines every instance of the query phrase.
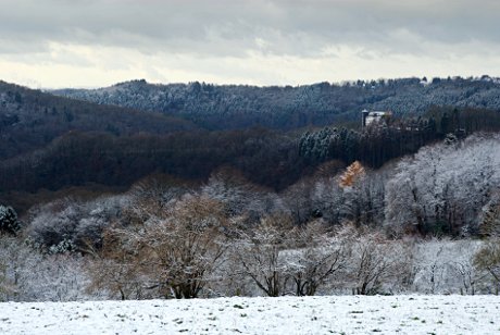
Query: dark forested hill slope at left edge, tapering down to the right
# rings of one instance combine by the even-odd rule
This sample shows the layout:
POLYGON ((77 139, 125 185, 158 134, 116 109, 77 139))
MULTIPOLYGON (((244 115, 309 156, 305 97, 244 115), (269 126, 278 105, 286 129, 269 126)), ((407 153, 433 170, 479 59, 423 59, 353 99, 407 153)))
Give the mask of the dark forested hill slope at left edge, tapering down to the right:
POLYGON ((160 113, 99 106, 0 82, 0 159, 41 148, 71 131, 167 134, 196 126, 160 113))

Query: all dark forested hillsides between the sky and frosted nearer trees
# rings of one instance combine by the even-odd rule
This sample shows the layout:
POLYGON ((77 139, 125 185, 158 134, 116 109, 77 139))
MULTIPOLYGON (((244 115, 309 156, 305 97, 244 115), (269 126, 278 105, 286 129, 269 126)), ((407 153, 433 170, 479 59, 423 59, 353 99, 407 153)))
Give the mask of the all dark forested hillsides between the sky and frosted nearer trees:
POLYGON ((155 173, 199 183, 229 167, 284 190, 327 161, 342 166, 359 160, 378 169, 446 134, 498 131, 499 85, 489 77, 295 88, 136 80, 59 91, 68 98, 0 83, 0 203, 24 212, 46 199, 45 190, 126 189, 155 173), (425 107, 438 102, 453 107, 425 107), (461 108, 474 103, 489 109, 461 108), (361 108, 398 106, 401 115, 402 106, 415 112, 384 128, 346 126, 349 120, 360 124, 361 108), (321 131, 284 129, 324 123, 321 131))

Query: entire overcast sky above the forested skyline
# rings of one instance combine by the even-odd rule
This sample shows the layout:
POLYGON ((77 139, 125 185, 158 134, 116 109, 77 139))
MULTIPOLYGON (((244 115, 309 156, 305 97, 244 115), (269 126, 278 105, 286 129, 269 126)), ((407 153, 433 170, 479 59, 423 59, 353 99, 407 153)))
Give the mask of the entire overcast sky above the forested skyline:
POLYGON ((483 74, 499 0, 0 0, 0 79, 37 88, 483 74))

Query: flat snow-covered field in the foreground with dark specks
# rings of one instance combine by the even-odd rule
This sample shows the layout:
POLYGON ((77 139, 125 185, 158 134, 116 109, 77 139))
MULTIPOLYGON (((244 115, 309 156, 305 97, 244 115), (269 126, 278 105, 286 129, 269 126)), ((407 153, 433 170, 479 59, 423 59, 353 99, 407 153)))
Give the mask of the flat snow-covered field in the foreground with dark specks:
POLYGON ((0 334, 500 334, 497 296, 4 302, 0 334))

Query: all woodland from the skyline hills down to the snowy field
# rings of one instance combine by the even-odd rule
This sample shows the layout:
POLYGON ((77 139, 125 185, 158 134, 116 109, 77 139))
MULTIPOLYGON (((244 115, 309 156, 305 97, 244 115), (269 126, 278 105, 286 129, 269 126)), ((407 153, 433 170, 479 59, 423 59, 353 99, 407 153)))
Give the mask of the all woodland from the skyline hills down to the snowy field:
POLYGON ((487 76, 1 83, 0 300, 498 294, 499 131, 487 76))

